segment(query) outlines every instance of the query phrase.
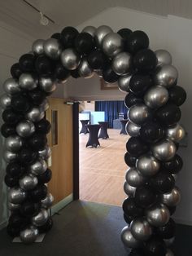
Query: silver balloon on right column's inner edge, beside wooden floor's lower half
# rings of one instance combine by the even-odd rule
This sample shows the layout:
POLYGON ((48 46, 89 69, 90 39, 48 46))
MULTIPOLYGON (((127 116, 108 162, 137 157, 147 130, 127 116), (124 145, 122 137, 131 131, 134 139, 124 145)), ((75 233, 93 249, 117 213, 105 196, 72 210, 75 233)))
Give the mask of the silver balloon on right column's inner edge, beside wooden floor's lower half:
POLYGON ((125 179, 132 187, 139 187, 146 183, 146 178, 139 174, 137 169, 134 167, 129 168, 125 174, 125 179))

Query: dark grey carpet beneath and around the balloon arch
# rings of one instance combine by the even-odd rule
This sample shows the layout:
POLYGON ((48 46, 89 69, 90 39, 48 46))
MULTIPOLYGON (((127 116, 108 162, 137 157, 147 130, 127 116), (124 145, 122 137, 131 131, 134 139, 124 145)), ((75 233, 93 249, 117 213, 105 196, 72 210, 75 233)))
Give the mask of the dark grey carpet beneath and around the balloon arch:
MULTIPOLYGON (((74 201, 54 216, 42 243, 12 243, 0 232, 1 256, 128 256, 120 241, 125 226, 121 207, 74 201)), ((176 256, 192 255, 192 227, 178 225, 176 256)))

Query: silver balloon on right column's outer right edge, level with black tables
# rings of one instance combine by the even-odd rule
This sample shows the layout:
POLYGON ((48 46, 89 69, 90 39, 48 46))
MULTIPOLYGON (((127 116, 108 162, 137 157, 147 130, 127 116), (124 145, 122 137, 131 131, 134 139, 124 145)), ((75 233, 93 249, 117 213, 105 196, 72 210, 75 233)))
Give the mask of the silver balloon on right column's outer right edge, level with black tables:
POLYGON ((168 129, 165 130, 165 135, 168 137, 168 139, 178 143, 184 138, 185 130, 182 126, 177 124, 175 126, 168 127, 168 129))

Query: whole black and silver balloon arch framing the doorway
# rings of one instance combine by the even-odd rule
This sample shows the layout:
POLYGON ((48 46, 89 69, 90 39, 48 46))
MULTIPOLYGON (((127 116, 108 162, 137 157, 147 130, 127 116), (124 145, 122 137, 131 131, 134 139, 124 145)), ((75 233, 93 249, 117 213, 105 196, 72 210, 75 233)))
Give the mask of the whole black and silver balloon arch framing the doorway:
POLYGON ((118 82, 127 93, 126 130, 131 137, 124 155, 129 170, 124 183, 128 197, 123 202, 127 226, 121 240, 138 255, 171 256, 168 247, 175 223, 170 216, 181 199, 175 179, 183 164, 177 149, 185 135, 177 122, 185 90, 177 86, 177 68, 168 51, 151 51, 143 31, 114 33, 106 25, 88 26, 81 33, 66 27, 47 40, 38 39, 32 52, 11 66, 12 77, 4 82, 0 99, 11 211, 7 232, 31 243, 52 227, 48 209, 53 196, 46 187, 51 179, 46 166, 50 157, 46 97, 70 75, 89 78, 94 73, 105 82, 118 82))

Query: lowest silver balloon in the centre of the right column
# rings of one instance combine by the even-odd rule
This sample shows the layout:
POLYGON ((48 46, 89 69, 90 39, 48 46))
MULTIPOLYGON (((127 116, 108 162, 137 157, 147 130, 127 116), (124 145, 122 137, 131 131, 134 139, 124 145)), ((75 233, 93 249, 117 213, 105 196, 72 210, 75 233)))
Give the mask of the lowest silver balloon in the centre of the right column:
POLYGON ((154 227, 162 227, 168 223, 170 212, 164 204, 157 204, 146 210, 146 219, 154 227))

